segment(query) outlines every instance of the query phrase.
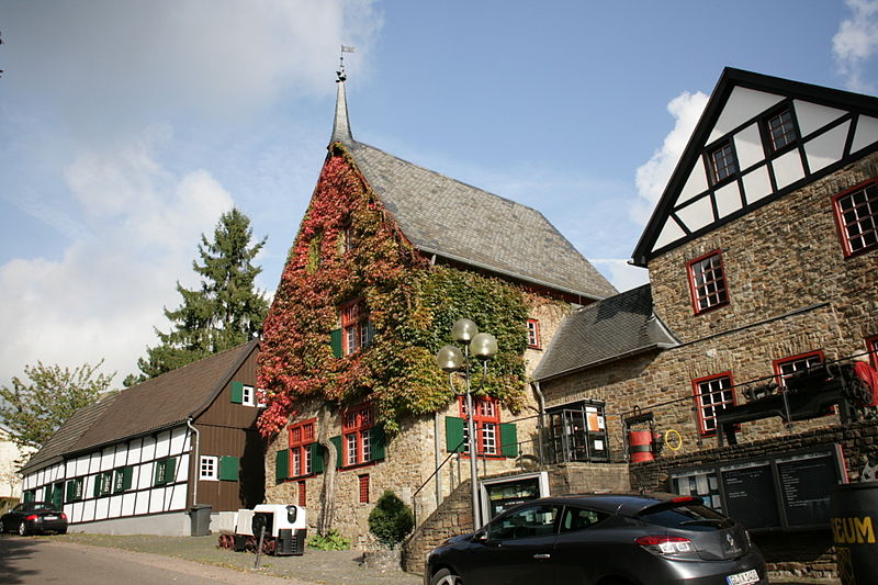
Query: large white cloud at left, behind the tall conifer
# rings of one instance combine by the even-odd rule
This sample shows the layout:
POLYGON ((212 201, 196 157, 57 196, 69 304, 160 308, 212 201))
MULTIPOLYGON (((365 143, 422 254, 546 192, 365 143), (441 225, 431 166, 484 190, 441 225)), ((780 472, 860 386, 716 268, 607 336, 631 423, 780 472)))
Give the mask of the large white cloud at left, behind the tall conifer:
POLYGON ((42 360, 75 367, 106 359, 120 378, 135 371, 162 306, 180 299, 191 269, 232 196, 205 170, 175 176, 156 162, 149 140, 112 154, 89 151, 66 172, 93 237, 58 260, 13 259, 0 267, 3 378, 42 360), (114 200, 117 198, 117 201, 114 200))

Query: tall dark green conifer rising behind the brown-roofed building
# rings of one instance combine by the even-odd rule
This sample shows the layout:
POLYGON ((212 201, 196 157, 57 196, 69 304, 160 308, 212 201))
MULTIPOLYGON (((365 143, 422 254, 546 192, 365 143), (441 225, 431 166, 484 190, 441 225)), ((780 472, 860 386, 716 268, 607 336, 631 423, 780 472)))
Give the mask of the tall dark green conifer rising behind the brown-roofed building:
POLYGON ((268 300, 254 288, 262 268, 252 260, 267 238, 252 245, 251 239, 250 220, 237 209, 219 217, 213 241, 202 234, 202 263, 192 261, 202 278, 201 286, 190 290, 177 283, 183 302, 173 311, 165 310, 171 330, 156 328, 161 344, 147 347, 147 356, 137 361, 142 373, 127 376, 126 386, 246 344, 260 334, 268 300))

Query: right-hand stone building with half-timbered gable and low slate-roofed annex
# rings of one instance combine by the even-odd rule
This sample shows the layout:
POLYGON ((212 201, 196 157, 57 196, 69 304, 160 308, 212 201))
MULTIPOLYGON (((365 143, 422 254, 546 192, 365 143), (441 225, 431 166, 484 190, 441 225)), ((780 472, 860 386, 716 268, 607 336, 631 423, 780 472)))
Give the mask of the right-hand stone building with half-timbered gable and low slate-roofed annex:
POLYGON ((632 487, 701 495, 784 535, 762 537, 775 569, 831 572, 828 494, 878 459, 852 373, 878 365, 878 100, 725 69, 633 261, 648 286, 562 325, 547 408, 604 404, 617 452, 664 448, 632 487))

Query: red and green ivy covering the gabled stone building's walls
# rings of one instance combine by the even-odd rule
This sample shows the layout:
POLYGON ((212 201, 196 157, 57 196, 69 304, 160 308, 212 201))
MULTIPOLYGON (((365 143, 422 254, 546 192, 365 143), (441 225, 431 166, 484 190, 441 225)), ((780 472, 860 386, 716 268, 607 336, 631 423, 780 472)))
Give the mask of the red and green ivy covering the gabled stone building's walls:
POLYGON ((452 394, 435 356, 461 317, 497 338, 484 393, 517 410, 528 304, 503 280, 427 262, 334 145, 266 318, 258 383, 268 407, 259 428, 273 437, 305 397, 340 406, 371 400, 391 432, 408 415, 443 408, 452 394), (374 338, 338 358, 330 331, 339 327, 339 307, 354 300, 364 302, 374 338))

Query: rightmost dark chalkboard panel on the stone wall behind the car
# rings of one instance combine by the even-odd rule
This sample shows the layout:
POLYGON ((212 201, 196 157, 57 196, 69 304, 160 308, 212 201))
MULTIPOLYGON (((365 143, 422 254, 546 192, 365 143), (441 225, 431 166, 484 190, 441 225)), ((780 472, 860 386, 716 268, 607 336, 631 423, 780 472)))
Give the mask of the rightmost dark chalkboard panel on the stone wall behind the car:
POLYGON ((778 458, 784 514, 788 526, 812 526, 830 521, 830 491, 838 483, 831 453, 807 453, 778 458))

